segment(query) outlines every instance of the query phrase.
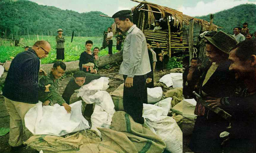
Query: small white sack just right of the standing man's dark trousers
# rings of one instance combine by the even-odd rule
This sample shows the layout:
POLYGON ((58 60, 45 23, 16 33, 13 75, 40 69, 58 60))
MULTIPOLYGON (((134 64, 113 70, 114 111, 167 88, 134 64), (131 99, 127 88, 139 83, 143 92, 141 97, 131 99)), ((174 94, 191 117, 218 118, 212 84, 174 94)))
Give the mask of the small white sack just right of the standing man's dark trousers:
POLYGON ((147 103, 152 104, 161 100, 163 90, 161 87, 147 88, 147 103))

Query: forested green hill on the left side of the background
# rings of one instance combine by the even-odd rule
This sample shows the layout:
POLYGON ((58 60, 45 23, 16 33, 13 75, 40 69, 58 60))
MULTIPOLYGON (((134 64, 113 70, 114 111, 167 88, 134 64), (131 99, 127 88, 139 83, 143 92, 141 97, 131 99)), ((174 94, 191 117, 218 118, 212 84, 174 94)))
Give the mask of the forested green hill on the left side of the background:
MULTIPOLYGON (((86 7, 86 6, 84 6, 86 7)), ((38 5, 30 1, 0 1, 0 32, 7 35, 56 35, 61 28, 64 35, 102 36, 114 22, 112 18, 99 16, 102 12, 78 13, 52 6, 38 5)))

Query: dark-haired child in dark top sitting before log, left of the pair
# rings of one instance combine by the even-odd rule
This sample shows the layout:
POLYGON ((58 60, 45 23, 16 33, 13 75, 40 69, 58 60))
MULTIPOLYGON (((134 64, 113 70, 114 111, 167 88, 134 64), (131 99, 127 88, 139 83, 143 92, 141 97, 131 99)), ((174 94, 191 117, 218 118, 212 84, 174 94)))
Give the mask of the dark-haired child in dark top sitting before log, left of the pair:
POLYGON ((93 47, 93 42, 91 40, 86 41, 86 51, 81 53, 79 58, 79 69, 87 73, 97 74, 97 69, 94 63, 94 54, 91 51, 93 47))

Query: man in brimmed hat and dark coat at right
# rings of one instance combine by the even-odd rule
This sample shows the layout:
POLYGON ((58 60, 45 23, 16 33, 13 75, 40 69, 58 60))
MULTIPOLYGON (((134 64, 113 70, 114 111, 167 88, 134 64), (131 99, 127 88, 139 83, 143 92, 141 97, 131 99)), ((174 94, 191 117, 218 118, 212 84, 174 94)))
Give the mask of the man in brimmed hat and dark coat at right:
MULTIPOLYGON (((236 88, 236 80, 234 73, 228 70, 228 54, 237 41, 222 31, 211 38, 204 38, 207 40, 206 56, 211 63, 199 81, 199 94, 204 100, 230 96, 236 88)), ((197 103, 195 115, 198 116, 189 143, 190 149, 194 152, 222 152, 220 133, 225 131, 229 122, 200 103, 197 103)))

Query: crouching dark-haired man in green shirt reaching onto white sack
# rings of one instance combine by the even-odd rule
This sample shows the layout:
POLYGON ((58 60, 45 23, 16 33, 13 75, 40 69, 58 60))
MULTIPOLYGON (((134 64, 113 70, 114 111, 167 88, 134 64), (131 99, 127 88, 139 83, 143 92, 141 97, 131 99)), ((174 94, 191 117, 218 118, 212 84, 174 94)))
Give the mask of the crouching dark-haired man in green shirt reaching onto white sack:
POLYGON ((68 113, 71 112, 71 107, 66 103, 66 101, 61 97, 58 92, 58 80, 65 74, 66 65, 63 62, 57 61, 53 64, 53 68, 47 76, 43 76, 39 79, 39 82, 43 85, 51 84, 50 92, 38 92, 39 100, 42 101, 42 105, 47 106, 50 103, 64 106, 68 113))

